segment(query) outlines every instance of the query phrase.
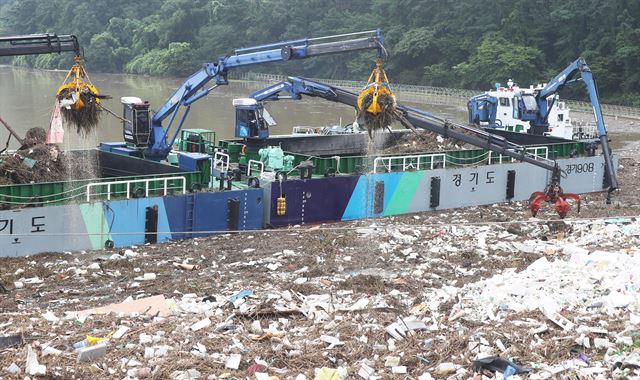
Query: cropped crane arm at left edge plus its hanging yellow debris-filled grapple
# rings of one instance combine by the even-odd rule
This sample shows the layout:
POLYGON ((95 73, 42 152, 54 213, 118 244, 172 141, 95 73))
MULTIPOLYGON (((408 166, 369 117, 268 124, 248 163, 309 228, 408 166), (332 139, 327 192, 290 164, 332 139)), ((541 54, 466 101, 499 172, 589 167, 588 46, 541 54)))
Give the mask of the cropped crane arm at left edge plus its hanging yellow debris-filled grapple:
POLYGON ((56 100, 62 115, 78 132, 88 131, 98 124, 100 100, 105 96, 91 83, 82 65, 78 38, 50 33, 0 37, 0 57, 63 52, 74 53, 74 64, 58 87, 56 100))

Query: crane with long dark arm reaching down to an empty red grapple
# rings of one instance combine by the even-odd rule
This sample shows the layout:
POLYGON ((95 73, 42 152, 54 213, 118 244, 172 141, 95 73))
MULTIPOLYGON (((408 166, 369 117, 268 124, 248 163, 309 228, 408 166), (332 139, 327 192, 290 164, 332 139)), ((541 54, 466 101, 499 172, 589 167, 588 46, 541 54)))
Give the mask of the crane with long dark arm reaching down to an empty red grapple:
MULTIPOLYGON (((299 100, 303 95, 319 97, 358 108, 358 94, 356 93, 306 78, 288 77, 282 82, 252 93, 248 98, 234 100, 236 137, 266 139, 269 136, 269 125, 262 117, 264 102, 280 99, 299 100)), ((504 137, 458 124, 414 107, 397 105, 396 109, 400 123, 407 128, 426 129, 441 136, 451 137, 550 171, 551 181, 545 191, 532 194, 530 208, 534 216, 540 209, 540 203, 543 200, 555 203, 556 211, 562 218, 567 215, 570 209, 566 199, 575 200, 578 204, 578 210, 580 210, 580 197, 562 191, 560 187, 562 170, 554 160, 532 155, 526 151, 526 147, 514 144, 504 137)))

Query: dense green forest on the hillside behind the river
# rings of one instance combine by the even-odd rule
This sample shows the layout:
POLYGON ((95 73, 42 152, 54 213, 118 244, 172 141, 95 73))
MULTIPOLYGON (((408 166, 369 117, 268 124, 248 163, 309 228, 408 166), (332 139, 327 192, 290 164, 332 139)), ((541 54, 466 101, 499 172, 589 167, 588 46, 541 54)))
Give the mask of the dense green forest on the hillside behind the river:
MULTIPOLYGON (((528 85, 583 56, 604 101, 640 106, 637 0, 0 0, 0 35, 75 34, 90 72, 183 76, 233 48, 377 27, 391 82, 528 85)), ((71 57, 12 63, 68 68, 71 57)), ((372 65, 365 52, 250 70, 364 80, 372 65)))

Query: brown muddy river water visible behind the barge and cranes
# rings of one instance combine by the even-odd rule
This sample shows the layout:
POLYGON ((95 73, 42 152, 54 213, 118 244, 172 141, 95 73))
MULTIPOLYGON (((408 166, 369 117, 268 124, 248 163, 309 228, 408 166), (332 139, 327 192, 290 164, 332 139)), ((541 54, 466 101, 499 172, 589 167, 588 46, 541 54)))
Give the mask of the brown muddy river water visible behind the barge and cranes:
MULTIPOLYGON (((90 70, 90 67, 89 67, 90 70)), ((292 73, 295 74, 295 73, 292 73)), ((47 128, 53 107, 53 96, 64 80, 65 72, 29 70, 0 66, 0 117, 20 134, 29 128, 47 128)), ((151 78, 137 75, 94 74, 91 80, 104 94, 113 99, 104 105, 114 113, 122 113, 120 97, 137 96, 148 100, 152 109, 158 109, 170 97, 184 79, 151 78)), ((209 96, 196 102, 189 113, 185 128, 204 128, 216 132, 218 139, 233 137, 234 98, 246 97, 268 83, 232 81, 221 86, 209 96)), ((402 99, 399 99, 402 101, 402 99)), ((407 103, 410 104, 410 103, 407 103)), ((410 104, 416 106, 416 104, 410 104)), ((419 106, 437 115, 464 120, 464 110, 442 106, 419 106)), ((278 125, 272 134, 291 132, 294 126, 323 127, 347 124, 354 120, 351 107, 331 103, 322 99, 301 101, 281 100, 268 106, 278 125)), ((115 117, 103 114, 95 135, 87 138, 73 136, 74 128, 65 132, 65 149, 95 146, 99 141, 122 141, 122 123, 115 117)), ((8 133, 0 128, 0 145, 4 146, 8 133)), ((15 143, 14 143, 15 144, 15 143)), ((15 148, 15 145, 12 147, 15 148)))

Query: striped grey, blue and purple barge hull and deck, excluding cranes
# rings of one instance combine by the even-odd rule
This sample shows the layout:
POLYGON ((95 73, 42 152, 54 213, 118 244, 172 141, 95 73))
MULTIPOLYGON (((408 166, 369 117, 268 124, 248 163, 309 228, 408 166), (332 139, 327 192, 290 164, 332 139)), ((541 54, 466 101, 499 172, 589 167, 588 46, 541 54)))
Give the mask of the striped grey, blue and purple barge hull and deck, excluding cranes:
MULTIPOLYGON (((488 149, 367 155, 366 134, 275 137, 273 142, 287 149, 272 146, 270 166, 259 154, 270 145, 243 152, 242 140, 216 142, 200 133, 183 131, 178 148, 187 151, 176 152, 182 168, 114 153, 117 145, 102 144, 91 151, 102 178, 0 187, 0 204, 10 207, 0 211, 1 255, 524 201, 550 180, 549 171, 488 149), (341 154, 318 153, 336 137, 348 142, 341 154), (209 149, 211 155, 202 153, 209 149), (286 156, 290 169, 274 164, 286 156)), ((603 157, 593 154, 588 142, 551 139, 526 149, 560 165, 565 191, 605 190, 603 157)))

